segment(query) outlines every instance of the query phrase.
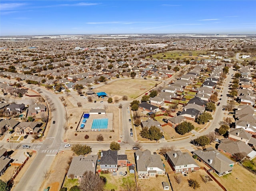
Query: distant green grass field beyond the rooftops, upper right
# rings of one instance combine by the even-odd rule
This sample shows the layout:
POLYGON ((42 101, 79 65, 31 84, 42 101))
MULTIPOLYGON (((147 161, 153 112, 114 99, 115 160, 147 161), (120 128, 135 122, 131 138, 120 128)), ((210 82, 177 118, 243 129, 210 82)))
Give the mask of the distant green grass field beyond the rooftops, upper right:
POLYGON ((201 59, 203 57, 198 57, 200 54, 207 54, 207 51, 173 50, 165 53, 158 53, 152 55, 152 57, 157 59, 201 59))

